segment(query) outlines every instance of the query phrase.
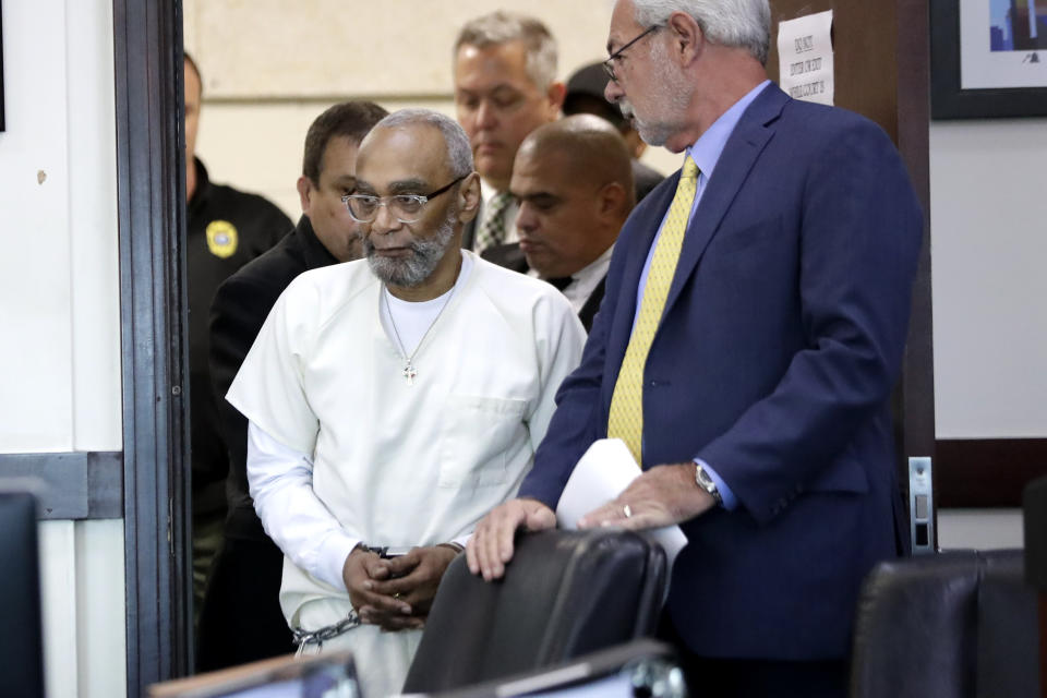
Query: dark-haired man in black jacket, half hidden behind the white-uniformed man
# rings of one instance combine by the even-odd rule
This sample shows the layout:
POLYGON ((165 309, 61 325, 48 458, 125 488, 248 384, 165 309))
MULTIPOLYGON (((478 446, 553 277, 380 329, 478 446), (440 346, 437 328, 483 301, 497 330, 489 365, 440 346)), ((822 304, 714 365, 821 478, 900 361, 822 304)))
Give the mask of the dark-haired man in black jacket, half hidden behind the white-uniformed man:
POLYGON ((248 422, 225 395, 280 293, 294 277, 360 257, 358 225, 341 197, 356 186, 357 149, 387 112, 369 101, 324 111, 305 136, 302 217, 272 250, 219 288, 210 310, 210 377, 229 450, 225 541, 201 612, 197 669, 212 671, 294 651, 280 611, 284 553, 265 534, 248 493, 248 422))

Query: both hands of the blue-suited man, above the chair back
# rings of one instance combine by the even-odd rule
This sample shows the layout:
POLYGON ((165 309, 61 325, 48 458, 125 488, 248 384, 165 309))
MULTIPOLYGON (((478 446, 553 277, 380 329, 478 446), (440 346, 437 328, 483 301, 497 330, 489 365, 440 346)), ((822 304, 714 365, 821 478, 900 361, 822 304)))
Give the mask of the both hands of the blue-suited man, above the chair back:
MULTIPOLYGON (((691 519, 714 505, 712 495, 695 482, 693 461, 655 466, 616 498, 585 515, 578 528, 661 528, 691 519)), ((517 529, 540 531, 555 526, 556 514, 537 500, 510 500, 495 507, 477 525, 466 545, 469 571, 488 581, 498 579, 513 558, 517 529)))

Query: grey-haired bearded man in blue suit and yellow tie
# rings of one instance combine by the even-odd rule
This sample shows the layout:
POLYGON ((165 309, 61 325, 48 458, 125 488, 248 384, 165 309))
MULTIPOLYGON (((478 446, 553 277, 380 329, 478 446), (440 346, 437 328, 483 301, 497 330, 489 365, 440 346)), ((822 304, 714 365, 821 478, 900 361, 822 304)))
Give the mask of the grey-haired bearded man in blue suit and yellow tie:
POLYGON ((687 155, 626 222, 520 498, 468 558, 502 576, 619 437, 643 472, 581 525, 682 525, 664 634, 696 689, 842 697, 862 579, 905 540, 888 404, 923 217, 878 127, 766 81, 769 34, 767 0, 616 2, 606 97, 687 155))

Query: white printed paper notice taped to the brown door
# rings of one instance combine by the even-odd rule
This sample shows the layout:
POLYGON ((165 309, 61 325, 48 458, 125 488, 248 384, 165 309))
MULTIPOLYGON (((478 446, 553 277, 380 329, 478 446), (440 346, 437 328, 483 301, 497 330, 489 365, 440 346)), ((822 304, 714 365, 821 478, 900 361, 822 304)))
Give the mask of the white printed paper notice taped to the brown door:
POLYGON ((832 10, 778 25, 779 83, 793 99, 831 105, 835 94, 832 63, 832 10))

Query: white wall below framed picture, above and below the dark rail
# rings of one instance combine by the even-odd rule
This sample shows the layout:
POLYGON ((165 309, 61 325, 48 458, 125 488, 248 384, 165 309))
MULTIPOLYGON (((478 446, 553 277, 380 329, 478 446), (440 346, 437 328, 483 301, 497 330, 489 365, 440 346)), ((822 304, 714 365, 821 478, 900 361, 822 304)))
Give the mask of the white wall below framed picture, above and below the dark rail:
MULTIPOLYGON (((1045 161, 1047 119, 930 125, 939 438, 1047 436, 1045 161)), ((938 533, 1020 547, 1021 510, 942 510, 938 533)))

